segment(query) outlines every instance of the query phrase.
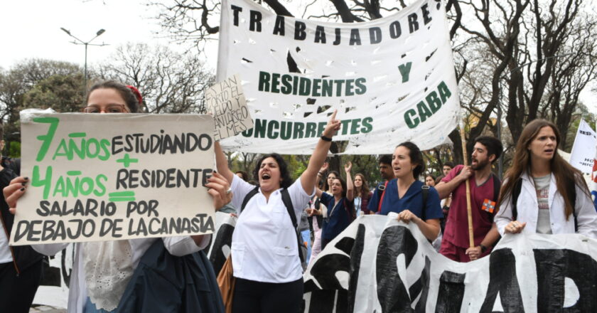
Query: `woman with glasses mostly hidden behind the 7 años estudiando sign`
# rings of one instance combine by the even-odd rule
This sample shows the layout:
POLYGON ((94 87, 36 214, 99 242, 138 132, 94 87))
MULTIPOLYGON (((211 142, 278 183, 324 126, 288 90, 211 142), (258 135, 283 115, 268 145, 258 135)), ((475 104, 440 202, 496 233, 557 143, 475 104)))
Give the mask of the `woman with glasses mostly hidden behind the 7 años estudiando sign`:
MULTIPOLYGON (((86 113, 138 112, 141 104, 141 94, 136 88, 107 81, 96 84, 90 89, 87 95, 87 106, 82 111, 86 113)), ((226 192, 229 184, 223 176, 214 174, 208 181, 209 184, 206 184, 206 186, 210 188, 208 192, 213 196, 213 204, 216 208, 221 208, 230 202, 232 195, 226 192)), ((26 192, 28 182, 29 180, 26 177, 17 177, 11 181, 9 186, 4 188, 6 203, 9 204, 12 213, 16 210, 18 198, 26 192)), ((31 208, 18 209, 27 210, 31 208)), ((148 287, 148 285, 151 284, 144 283, 139 278, 139 275, 146 275, 141 277, 149 277, 149 275, 147 275, 147 272, 139 272, 139 275, 136 272, 136 268, 140 267, 140 261, 155 261, 151 257, 147 259, 144 256, 146 252, 158 251, 157 253, 161 253, 163 258, 171 261, 170 264, 179 264, 177 263, 178 260, 182 259, 177 259, 176 257, 190 255, 203 250, 203 248, 208 246, 210 235, 162 238, 163 245, 156 245, 158 243, 157 240, 158 238, 139 238, 133 240, 76 243, 76 256, 70 276, 68 312, 105 313, 141 312, 145 310, 143 305, 152 301, 156 302, 155 299, 150 299, 151 297, 148 296, 151 290, 151 286, 148 287), (164 252, 164 248, 167 250, 167 253, 164 252), (134 284, 129 284, 129 282, 134 282, 134 284), (123 297, 126 297, 127 300, 121 302, 121 298, 123 297), (143 303, 144 300, 146 300, 145 303, 143 303), (139 302, 138 305, 137 302, 139 302)), ((68 243, 42 244, 33 245, 33 248, 45 255, 55 255, 60 250, 66 248, 67 245, 68 243)), ((163 261, 163 259, 160 260, 163 261)), ((148 267, 148 262, 142 263, 142 268, 148 267)), ((210 276, 215 280, 213 269, 209 262, 207 263, 199 264, 198 262, 196 264, 207 271, 203 273, 206 280, 209 280, 208 277, 210 276)), ((170 268, 166 267, 166 270, 170 270, 170 268)), ((158 282, 153 282, 156 285, 160 285, 158 282)), ((174 286, 170 288, 161 287, 159 294, 171 295, 169 292, 174 289, 174 286)), ((208 311, 220 312, 222 310, 220 293, 212 290, 211 294, 215 298, 213 301, 215 304, 210 303, 208 306, 213 309, 208 311), (218 301, 220 302, 219 305, 218 301)), ((172 305, 177 308, 183 307, 185 304, 188 304, 188 299, 185 299, 185 301, 185 303, 160 303, 162 306, 152 307, 151 309, 156 309, 158 312, 171 312, 173 310, 172 305), (168 305, 171 306, 167 307, 168 305)))

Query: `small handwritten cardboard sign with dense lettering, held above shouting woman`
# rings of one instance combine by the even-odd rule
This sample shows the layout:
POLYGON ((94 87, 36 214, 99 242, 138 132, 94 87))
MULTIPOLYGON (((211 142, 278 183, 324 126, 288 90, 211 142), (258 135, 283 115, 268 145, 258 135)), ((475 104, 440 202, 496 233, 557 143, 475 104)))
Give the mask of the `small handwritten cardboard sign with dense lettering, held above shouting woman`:
POLYGON ((215 122, 215 140, 232 137, 253 128, 253 119, 249 115, 238 75, 209 87, 205 100, 208 112, 212 113, 215 122))

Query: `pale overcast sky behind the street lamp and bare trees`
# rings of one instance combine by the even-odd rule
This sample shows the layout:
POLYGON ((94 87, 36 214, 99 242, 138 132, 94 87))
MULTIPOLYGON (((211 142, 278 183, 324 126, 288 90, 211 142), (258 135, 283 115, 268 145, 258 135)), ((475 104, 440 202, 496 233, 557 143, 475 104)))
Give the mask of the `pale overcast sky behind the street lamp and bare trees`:
MULTIPOLYGON (((73 38, 60 28, 66 28, 82 41, 89 41, 99 29, 105 33, 92 43, 109 46, 89 46, 87 64, 101 63, 124 43, 143 42, 168 45, 173 50, 182 47, 158 36, 160 30, 156 8, 146 6, 148 0, 5 0, 0 4, 0 67, 26 58, 63 60, 83 65, 84 46, 72 43, 73 38)), ((301 10, 302 11, 302 10, 301 10)), ((208 68, 215 73, 217 47, 207 48, 208 68)), ((596 84, 593 84, 596 86, 596 84)), ((597 112, 597 92, 586 88, 581 100, 591 112, 597 112)))

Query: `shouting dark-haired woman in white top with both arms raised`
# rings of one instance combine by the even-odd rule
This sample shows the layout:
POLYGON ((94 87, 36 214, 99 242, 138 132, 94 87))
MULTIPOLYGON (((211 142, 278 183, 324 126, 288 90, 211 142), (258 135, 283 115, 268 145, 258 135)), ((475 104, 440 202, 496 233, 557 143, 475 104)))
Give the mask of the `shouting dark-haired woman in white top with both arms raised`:
POLYGON ((330 117, 307 169, 291 180, 286 161, 266 154, 257 161, 255 187, 230 169, 215 143, 217 171, 230 182, 239 218, 232 235, 232 267, 236 277, 232 312, 298 312, 303 299, 303 275, 296 221, 315 191, 340 121, 330 117), (294 218, 293 218, 294 216, 294 218), (294 224, 294 225, 293 225, 294 224))

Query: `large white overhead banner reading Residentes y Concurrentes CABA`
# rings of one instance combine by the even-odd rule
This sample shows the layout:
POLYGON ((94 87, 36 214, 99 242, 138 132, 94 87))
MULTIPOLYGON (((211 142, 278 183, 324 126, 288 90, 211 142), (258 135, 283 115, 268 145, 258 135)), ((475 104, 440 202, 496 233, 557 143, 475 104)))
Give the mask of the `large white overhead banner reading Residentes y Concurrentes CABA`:
POLYGON ((222 141, 243 152, 311 154, 328 116, 347 154, 429 149, 456 127, 458 87, 446 12, 421 0, 366 23, 276 16, 222 1, 217 78, 239 74, 254 127, 222 141))

